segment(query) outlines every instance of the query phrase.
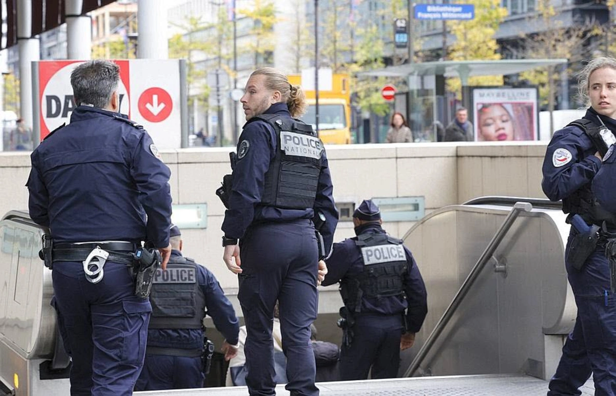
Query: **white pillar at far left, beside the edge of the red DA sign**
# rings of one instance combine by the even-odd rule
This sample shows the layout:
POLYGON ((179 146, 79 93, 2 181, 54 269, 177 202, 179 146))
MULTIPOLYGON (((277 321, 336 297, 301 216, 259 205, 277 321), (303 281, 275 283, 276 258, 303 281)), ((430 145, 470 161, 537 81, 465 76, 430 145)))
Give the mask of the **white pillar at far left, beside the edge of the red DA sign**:
POLYGON ((38 38, 32 35, 32 0, 17 2, 17 45, 19 47, 20 117, 32 128, 32 63, 41 59, 38 38))

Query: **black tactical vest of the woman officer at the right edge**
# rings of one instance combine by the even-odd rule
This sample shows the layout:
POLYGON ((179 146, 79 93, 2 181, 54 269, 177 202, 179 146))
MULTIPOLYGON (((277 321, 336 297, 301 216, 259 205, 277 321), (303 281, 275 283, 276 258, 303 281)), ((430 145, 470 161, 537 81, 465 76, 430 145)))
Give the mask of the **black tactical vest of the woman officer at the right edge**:
MULTIPOLYGON (((602 155, 606 153, 607 148, 602 142, 601 136, 599 136, 599 130, 601 130, 599 125, 596 125, 591 120, 582 118, 570 122, 567 126, 577 126, 577 128, 580 128, 591 139, 597 151, 602 153, 602 155)), ((608 228, 616 228, 616 215, 599 205, 591 190, 590 183, 563 199, 562 211, 564 213, 577 213, 589 224, 601 225, 603 221, 606 221, 608 228)))

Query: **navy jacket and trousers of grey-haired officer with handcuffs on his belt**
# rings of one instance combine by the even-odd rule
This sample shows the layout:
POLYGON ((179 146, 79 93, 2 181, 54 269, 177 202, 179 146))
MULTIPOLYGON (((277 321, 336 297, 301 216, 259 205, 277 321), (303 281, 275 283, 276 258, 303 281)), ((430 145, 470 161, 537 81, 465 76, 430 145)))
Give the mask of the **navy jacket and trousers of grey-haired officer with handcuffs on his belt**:
MULTIPOLYGON (((76 107, 31 162, 30 217, 49 227, 54 251, 100 246, 128 255, 141 241, 168 246, 169 168, 126 116, 76 107)), ((92 283, 81 261, 54 260, 52 305, 73 361, 71 395, 131 395, 139 376, 152 307, 135 295, 129 262, 116 261, 92 283)))

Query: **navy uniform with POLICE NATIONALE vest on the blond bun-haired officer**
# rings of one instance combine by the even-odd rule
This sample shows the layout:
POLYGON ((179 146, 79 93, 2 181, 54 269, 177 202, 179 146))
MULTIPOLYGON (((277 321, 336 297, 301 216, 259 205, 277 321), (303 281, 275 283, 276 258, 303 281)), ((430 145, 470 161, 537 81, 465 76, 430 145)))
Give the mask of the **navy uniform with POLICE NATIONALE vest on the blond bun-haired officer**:
POLYGON ((290 131, 293 125, 306 125, 291 118, 285 103, 271 105, 264 115, 273 118, 267 122, 255 116, 241 133, 230 208, 222 224, 226 239, 240 239, 246 384, 251 395, 274 394, 272 321, 278 300, 286 389, 291 395, 314 396, 310 324, 317 318, 318 252, 311 219, 315 211, 325 216, 320 232, 329 250, 338 212, 322 142, 309 126, 304 131, 310 133, 290 131))

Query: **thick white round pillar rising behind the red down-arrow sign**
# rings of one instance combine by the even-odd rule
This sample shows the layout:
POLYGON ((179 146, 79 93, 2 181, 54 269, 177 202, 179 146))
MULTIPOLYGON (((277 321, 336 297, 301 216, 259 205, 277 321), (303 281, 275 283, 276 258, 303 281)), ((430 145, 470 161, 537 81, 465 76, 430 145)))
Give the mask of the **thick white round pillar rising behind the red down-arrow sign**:
POLYGON ((167 5, 164 1, 137 2, 137 58, 168 59, 167 5))

